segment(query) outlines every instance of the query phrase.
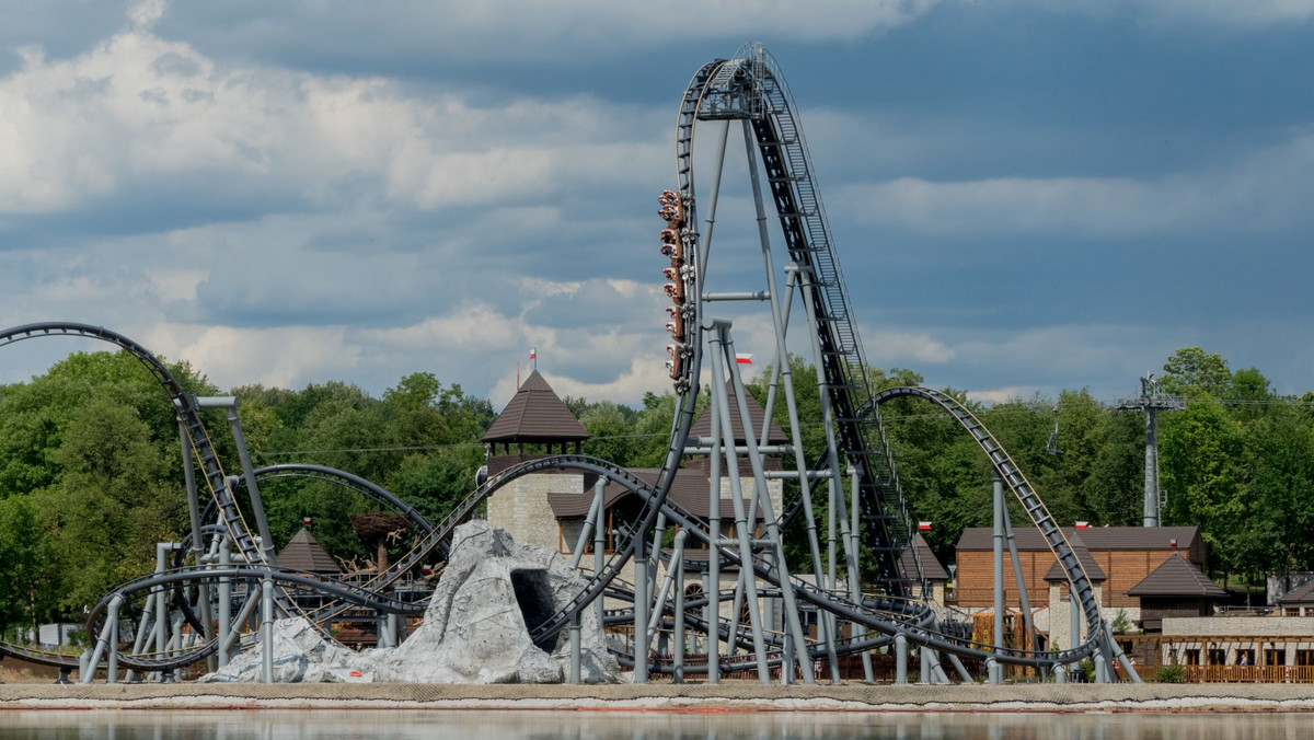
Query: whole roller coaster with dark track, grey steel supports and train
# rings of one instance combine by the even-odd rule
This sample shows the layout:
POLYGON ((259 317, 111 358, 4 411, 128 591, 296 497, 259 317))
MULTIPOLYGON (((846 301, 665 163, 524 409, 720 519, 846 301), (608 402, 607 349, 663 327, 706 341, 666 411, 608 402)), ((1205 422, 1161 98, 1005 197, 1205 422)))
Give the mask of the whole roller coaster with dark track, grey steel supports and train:
MULTIPOLYGON (((68 322, 0 331, 0 346, 49 336, 108 342, 150 371, 179 419, 191 524, 183 542, 162 545, 156 572, 120 585, 91 609, 87 631, 95 647, 87 653, 75 659, 0 643, 0 656, 57 665, 66 673, 79 668, 84 682, 96 676, 102 661, 110 681, 117 680, 121 668, 138 676, 167 678, 200 661, 208 661, 210 668, 225 665, 235 651, 268 639, 268 624, 276 614, 302 615, 331 639, 323 626, 351 610, 377 614, 380 644, 397 644, 405 639, 405 618, 419 616, 426 607, 423 599, 398 598, 398 584, 409 573, 445 560, 453 530, 476 517, 481 505, 509 482, 547 471, 568 471, 599 480, 581 543, 587 532, 602 530, 603 485, 628 490, 641 501, 641 507, 624 536, 616 538, 610 557, 604 548, 595 547, 589 564, 581 557, 582 549, 576 548, 574 564, 587 576, 587 586, 556 614, 531 626, 531 637, 536 644, 565 640, 568 627, 587 609, 598 610, 608 624, 632 623, 632 639, 616 644, 614 651, 632 669, 636 682, 645 682, 654 673, 674 674, 677 680, 703 674, 706 681, 716 682, 729 672, 756 672, 762 682, 773 676, 783 682, 798 678, 813 682, 817 661, 829 666, 832 681, 840 681, 838 659, 845 655, 861 656, 870 680, 870 656, 875 651, 894 651, 899 665, 896 680, 907 681, 909 645, 920 647, 925 681, 950 681, 951 673, 942 666, 941 657, 953 664, 964 682, 974 678, 962 659, 984 662, 987 680, 992 682, 1001 680, 1004 665, 1053 672, 1062 681, 1074 664, 1087 657, 1096 662, 1101 680, 1112 680, 1116 660, 1122 660, 1127 676, 1138 680, 1112 640, 1071 544, 999 440, 966 406, 943 393, 871 386, 796 108, 775 60, 761 45, 746 45, 733 58, 716 59, 694 74, 681 99, 675 126, 675 185, 661 193, 658 205, 660 251, 670 260, 662 271, 670 298, 668 368, 677 405, 665 460, 653 481, 606 460, 549 455, 489 477, 447 517, 431 522, 390 492, 343 471, 301 464, 254 469, 233 400, 187 393, 145 347, 114 331, 68 322), (711 129, 712 138, 698 146, 695 133, 704 127, 711 129), (765 275, 761 289, 731 290, 710 277, 720 264, 712 260, 712 235, 732 129, 742 131, 765 275), (712 155, 704 166, 708 149, 712 155), (704 176, 710 180, 706 193, 695 192, 695 173, 699 181, 704 176), (700 209, 706 210, 702 221, 700 209), (773 217, 778 229, 771 226, 773 217), (778 262, 783 267, 778 268, 778 262), (795 301, 802 304, 798 312, 802 318, 791 321, 795 301), (744 310, 762 304, 770 313, 774 339, 765 426, 770 426, 775 407, 783 401, 790 440, 770 451, 792 463, 786 465, 787 471, 770 474, 763 464, 763 453, 770 448, 767 428, 756 439, 746 411, 745 385, 736 361, 735 322, 715 313, 723 306, 744 310), (800 326, 794 334, 802 336, 791 342, 794 325, 800 326), (815 459, 808 459, 804 451, 794 385, 799 379, 792 376, 788 361, 790 351, 799 347, 811 354, 821 398, 825 446, 815 459), (694 436, 691 427, 702 389, 710 396, 711 431, 708 436, 694 436), (1001 637, 974 641, 946 623, 945 615, 926 601, 925 588, 915 593, 913 586, 924 578, 916 557, 912 572, 901 557, 909 548, 912 527, 880 418, 882 405, 896 398, 933 404, 976 442, 996 473, 996 527, 1000 518, 1010 527, 1000 493, 1007 488, 1066 573, 1070 593, 1080 605, 1083 641, 1049 651, 1007 645, 1001 637), (205 407, 229 409, 242 474, 223 471, 202 423, 205 407), (731 418, 736 411, 738 418, 731 418), (752 431, 736 435, 736 425, 752 431), (677 471, 690 457, 706 457, 711 469, 708 517, 692 514, 669 496, 677 471), (197 469, 200 476, 194 474, 197 469), (741 471, 740 476, 727 476, 733 510, 724 519, 729 522, 720 511, 721 469, 741 471), (279 567, 260 484, 289 476, 346 486, 401 515, 414 532, 409 552, 364 582, 279 567), (781 511, 774 510, 766 493, 770 477, 786 478, 792 486, 792 498, 781 511), (823 496, 828 497, 828 522, 819 522, 813 506, 823 496), (749 522, 763 526, 756 528, 749 522), (805 536, 805 564, 799 572, 791 572, 781 535, 794 523, 802 524, 805 536), (732 536, 723 535, 725 524, 731 526, 732 536), (673 551, 662 548, 668 528, 678 531, 673 551), (828 530, 825 553, 823 528, 828 530), (689 597, 679 585, 671 588, 673 582, 682 584, 685 544, 690 539, 708 553, 708 588, 699 597, 689 597), (173 555, 171 564, 164 561, 166 551, 173 555), (859 563, 874 563, 866 580, 859 578, 859 563), (733 573, 732 589, 721 588, 723 573, 733 573), (314 606, 294 598, 306 593, 318 597, 314 606), (120 619, 129 605, 141 609, 130 648, 120 644, 120 619), (259 635, 246 631, 258 610, 264 631, 259 635), (748 613, 746 624, 740 618, 742 611, 748 613), (820 615, 815 634, 804 630, 804 611, 820 615), (653 651, 653 640, 665 630, 674 631, 674 647, 653 651), (690 636, 696 639, 691 641, 690 636), (706 655, 686 655, 691 644, 702 644, 706 655)), ((724 272, 742 275, 735 269, 724 272)), ((1001 591, 999 573, 996 567, 996 591, 1001 591)), ((996 626, 1001 611, 996 609, 996 626)), ((1080 634, 1076 620, 1074 611, 1074 634, 1080 634)), ((995 635, 1001 632, 996 628, 995 635)))

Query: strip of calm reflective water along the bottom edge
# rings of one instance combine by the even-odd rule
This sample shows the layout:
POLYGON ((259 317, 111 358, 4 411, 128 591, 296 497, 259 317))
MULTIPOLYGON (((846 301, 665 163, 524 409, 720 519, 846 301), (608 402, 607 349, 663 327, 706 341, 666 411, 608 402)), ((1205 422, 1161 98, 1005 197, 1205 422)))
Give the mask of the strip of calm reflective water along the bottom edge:
POLYGON ((1309 714, 9 711, 0 740, 1243 740, 1314 736, 1309 714))

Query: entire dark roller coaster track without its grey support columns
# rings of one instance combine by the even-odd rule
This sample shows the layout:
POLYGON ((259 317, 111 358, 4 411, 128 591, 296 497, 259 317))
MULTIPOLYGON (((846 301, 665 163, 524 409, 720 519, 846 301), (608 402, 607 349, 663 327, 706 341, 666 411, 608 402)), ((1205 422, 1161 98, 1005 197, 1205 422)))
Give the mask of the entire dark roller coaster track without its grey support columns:
MULTIPOLYGON (((101 327, 76 323, 28 325, 0 333, 0 346, 49 335, 88 336, 110 342, 142 361, 152 376, 166 388, 173 400, 180 419, 196 451, 212 492, 213 506, 221 513, 219 519, 229 536, 246 560, 244 565, 227 568, 177 568, 166 573, 143 576, 114 589, 96 606, 89 626, 105 620, 109 605, 133 594, 148 591, 159 586, 184 582, 210 582, 219 577, 231 578, 272 578, 279 584, 313 589, 330 594, 346 605, 374 609, 392 614, 415 614, 422 603, 402 602, 386 595, 388 588, 407 570, 418 567, 435 553, 442 553, 443 544, 452 536, 455 528, 474 517, 478 507, 507 482, 526 474, 545 471, 576 471, 597 474, 615 482, 640 497, 643 507, 633 523, 635 536, 606 564, 594 573, 587 585, 556 614, 531 631, 535 643, 544 637, 560 637, 566 624, 597 598, 607 593, 618 593, 620 573, 624 565, 636 556, 646 557, 645 538, 653 531, 658 517, 682 527, 695 540, 716 549, 728 563, 738 564, 741 570, 752 573, 765 584, 777 589, 788 589, 795 597, 854 624, 874 630, 878 636, 850 640, 837 647, 838 653, 870 649, 895 636, 904 636, 915 644, 928 645, 958 656, 993 659, 999 662, 1050 666, 1072 662, 1093 653, 1102 639, 1102 622, 1095 602, 1089 580, 1081 570, 1071 545, 1063 538, 1053 517, 1045 509, 1034 489, 1021 471, 995 440, 989 431, 966 407, 953 398, 924 388, 895 388, 872 393, 867 377, 862 346, 855 329, 851 304, 840 271, 838 259, 830 238, 829 223, 816 188, 812 163, 803 139, 802 127, 794 113, 794 104, 783 76, 775 62, 757 45, 745 47, 737 58, 715 60, 702 66, 690 80, 681 100, 675 137, 677 188, 671 201, 664 196, 664 218, 669 231, 677 234, 678 250, 673 267, 678 264, 668 292, 675 298, 675 314, 682 327, 677 333, 677 344, 671 355, 671 377, 675 381, 677 413, 671 422, 670 443, 656 484, 637 477, 635 473, 614 464, 582 455, 557 455, 530 460, 502 471, 489 481, 477 486, 442 522, 430 523, 403 502, 363 478, 352 480, 340 471, 311 465, 280 465, 263 469, 268 476, 298 474, 332 480, 352 488, 374 501, 403 513, 418 538, 410 552, 403 555, 392 568, 380 573, 368 584, 355 585, 335 578, 311 576, 273 568, 263 563, 251 530, 240 518, 234 497, 227 488, 226 477, 215 459, 213 446, 205 435, 196 400, 184 392, 167 368, 137 343, 101 327), (761 557, 761 553, 744 553, 736 547, 711 542, 706 523, 669 499, 669 492, 681 465, 689 430, 695 415, 699 392, 699 373, 703 348, 703 268, 699 234, 696 230, 696 197, 694 187, 694 138, 699 121, 744 120, 749 124, 756 149, 763 160, 767 184, 777 217, 784 233, 784 247, 799 272, 799 288, 805 297, 811 313, 811 326, 815 327, 820 344, 817 356, 823 375, 823 389, 833 414, 837 432, 837 452, 849 464, 859 469, 859 507, 866 527, 866 545, 878 560, 878 581, 883 593, 863 599, 819 588, 803 578, 783 577, 775 564, 761 557), (668 212, 669 208, 669 212, 668 212), (1021 501, 1033 524, 1041 530, 1046 542, 1054 549, 1063 565, 1074 591, 1081 601, 1083 611, 1092 635, 1085 643, 1066 651, 1026 651, 1018 648, 995 647, 975 643, 957 635, 946 634, 937 627, 934 613, 925 603, 913 602, 907 597, 908 580, 901 574, 899 556, 908 545, 911 531, 897 477, 894 471, 892 453, 880 425, 879 407, 892 398, 918 397, 937 404, 949 411, 989 456, 992 465, 1021 501)), ((664 233, 664 244, 666 234, 664 233)), ((820 463, 819 465, 825 465, 820 463)), ((829 461, 834 468, 834 461, 829 461)), ((340 614, 346 606, 338 603, 307 614, 314 622, 323 622, 340 614)), ((707 624, 690 615, 681 616, 695 628, 707 634, 735 634, 741 641, 737 628, 724 624, 707 624)), ((820 655, 817 644, 800 645, 809 653, 820 655)), ((180 665, 180 661, 194 661, 213 652, 213 644, 192 648, 185 656, 122 656, 120 660, 129 666, 160 669, 180 665), (171 662, 172 661, 172 662, 171 662)), ((0 651, 22 655, 22 649, 0 645, 0 651)), ((783 651, 774 651, 771 661, 779 662, 783 651)), ((723 656, 721 664, 728 669, 748 666, 756 656, 723 656)), ((67 660, 60 665, 67 664, 67 660)), ((665 669, 660 666, 658 669, 665 669)))

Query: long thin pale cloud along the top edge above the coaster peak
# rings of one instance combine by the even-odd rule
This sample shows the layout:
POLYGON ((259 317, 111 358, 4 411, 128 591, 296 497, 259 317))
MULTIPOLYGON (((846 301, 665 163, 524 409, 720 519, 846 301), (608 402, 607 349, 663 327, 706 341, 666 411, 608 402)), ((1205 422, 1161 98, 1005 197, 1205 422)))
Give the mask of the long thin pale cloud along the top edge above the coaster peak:
POLYGON ((754 38, 853 42, 915 22, 937 0, 715 0, 679 13, 608 0, 402 5, 382 13, 347 0, 188 3, 173 7, 163 26, 208 47, 277 64, 388 68, 426 76, 453 62, 560 67, 708 39, 735 39, 723 54, 754 38))

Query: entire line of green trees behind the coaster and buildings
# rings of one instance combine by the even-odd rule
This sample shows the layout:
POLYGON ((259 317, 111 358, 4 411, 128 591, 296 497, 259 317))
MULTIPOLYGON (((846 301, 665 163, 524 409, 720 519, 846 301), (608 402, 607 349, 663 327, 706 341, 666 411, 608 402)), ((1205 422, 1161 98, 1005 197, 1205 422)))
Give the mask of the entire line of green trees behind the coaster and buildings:
MULTIPOLYGON (((187 363, 170 368, 187 390, 219 394, 187 363)), ((815 459, 824 444, 815 369, 791 358, 791 372, 803 443, 815 459)), ((759 402, 771 375, 766 368, 748 384, 759 402)), ((897 368, 869 368, 869 380, 876 389, 922 382, 897 368)), ((1160 382, 1185 400, 1183 410, 1159 419, 1163 523, 1198 526, 1215 574, 1314 569, 1314 394, 1279 396, 1257 369, 1233 372, 1198 347, 1168 358, 1160 382)), ((1141 523, 1141 414, 1118 411, 1085 389, 992 405, 943 390, 995 432, 1060 524, 1141 523)), ((227 394, 239 400, 256 467, 301 461, 348 471, 432 520, 474 489, 485 460, 480 438, 497 413, 426 372, 402 377, 377 398, 338 381, 301 390, 250 385, 227 394)), ((671 393, 648 393, 637 407, 564 401, 593 435, 585 453, 627 467, 661 464, 671 393)), ((239 472, 222 411, 208 414, 225 469, 239 472)), ((950 561, 964 527, 989 526, 989 463, 929 404, 896 400, 882 415, 912 517, 933 523, 928 540, 950 561)), ((783 402, 775 419, 786 426, 783 402)), ((80 620, 116 584, 148 572, 155 543, 188 531, 181 460, 167 396, 130 355, 79 352, 28 382, 0 386, 0 630, 80 620)), ((376 509, 363 497, 323 481, 283 478, 263 484, 261 493, 277 547, 311 517, 314 536, 334 556, 373 555, 348 520, 376 509)), ((824 517, 824 494, 815 503, 824 517)), ((1022 520, 1020 509, 1013 518, 1022 520)), ((787 538, 800 552, 802 528, 787 538)))

